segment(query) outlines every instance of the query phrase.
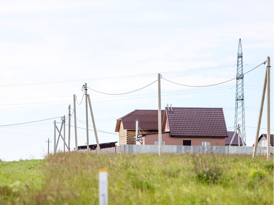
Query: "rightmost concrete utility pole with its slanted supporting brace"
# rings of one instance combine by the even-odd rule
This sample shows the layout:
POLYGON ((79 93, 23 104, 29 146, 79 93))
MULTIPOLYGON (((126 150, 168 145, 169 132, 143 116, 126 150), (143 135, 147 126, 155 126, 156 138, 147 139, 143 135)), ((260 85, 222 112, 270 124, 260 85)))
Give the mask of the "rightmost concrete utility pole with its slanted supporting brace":
POLYGON ((260 127, 261 127, 262 113, 263 113, 263 103, 265 100, 265 91, 267 88, 267 160, 270 159, 270 67, 271 67, 270 66, 270 57, 268 56, 267 57, 267 66, 266 66, 266 70, 265 70, 265 79, 263 82, 263 93, 262 93, 262 98, 261 98, 257 131, 256 131, 254 149, 253 149, 253 155, 252 155, 252 157, 255 157, 255 155, 257 153, 259 132, 260 132, 260 127))

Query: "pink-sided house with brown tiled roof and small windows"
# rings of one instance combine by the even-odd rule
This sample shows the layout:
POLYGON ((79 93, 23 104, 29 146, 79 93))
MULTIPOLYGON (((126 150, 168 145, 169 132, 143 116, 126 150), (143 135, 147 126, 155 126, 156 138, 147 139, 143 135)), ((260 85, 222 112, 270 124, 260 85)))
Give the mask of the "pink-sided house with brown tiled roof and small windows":
MULTIPOLYGON (((223 108, 165 108, 163 145, 225 146, 227 137, 223 108)), ((138 141, 156 145, 158 132, 140 134, 138 141)))

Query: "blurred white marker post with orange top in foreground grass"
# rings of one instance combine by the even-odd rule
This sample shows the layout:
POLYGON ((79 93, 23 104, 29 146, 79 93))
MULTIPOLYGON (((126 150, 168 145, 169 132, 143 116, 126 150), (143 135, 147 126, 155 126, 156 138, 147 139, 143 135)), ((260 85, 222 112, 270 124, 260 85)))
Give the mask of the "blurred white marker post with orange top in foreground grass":
POLYGON ((99 205, 108 205, 108 170, 99 169, 99 205))

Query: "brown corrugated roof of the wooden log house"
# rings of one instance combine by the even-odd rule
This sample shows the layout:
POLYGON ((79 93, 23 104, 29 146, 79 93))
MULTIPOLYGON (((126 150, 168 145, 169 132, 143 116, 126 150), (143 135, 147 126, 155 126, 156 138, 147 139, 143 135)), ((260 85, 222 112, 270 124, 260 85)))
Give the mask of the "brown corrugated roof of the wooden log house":
MULTIPOLYGON (((163 122, 164 110, 161 117, 163 122)), ((134 110, 117 120, 115 132, 119 132, 121 122, 125 130, 135 130, 136 120, 142 130, 158 130, 158 110, 134 110)))

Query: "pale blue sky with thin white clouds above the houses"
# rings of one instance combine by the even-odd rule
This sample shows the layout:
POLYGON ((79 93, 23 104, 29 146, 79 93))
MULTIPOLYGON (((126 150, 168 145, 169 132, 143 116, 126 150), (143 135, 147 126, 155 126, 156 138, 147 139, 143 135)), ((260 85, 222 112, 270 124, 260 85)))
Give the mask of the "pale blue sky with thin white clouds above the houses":
MULTIPOLYGON (((270 0, 0 1, 0 159, 43 159, 48 139, 53 152, 53 121, 60 129, 64 115, 67 141, 74 94, 78 145, 85 145, 85 83, 99 143, 117 142, 117 119, 135 109, 158 109, 152 83, 158 73, 191 86, 235 78, 239 39, 244 73, 270 56, 273 134, 273 24, 270 0)), ((265 66, 244 75, 247 146, 255 141, 265 66)), ((220 107, 234 131, 236 80, 186 87, 164 79, 162 109, 220 107)), ((265 108, 260 134, 266 133, 265 108)), ((89 111, 88 124, 89 142, 96 144, 89 111)), ((73 126, 72 115, 71 149, 73 126)), ((57 148, 63 150, 62 140, 57 148)))

